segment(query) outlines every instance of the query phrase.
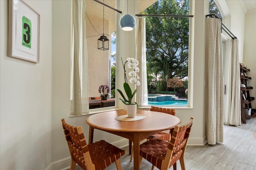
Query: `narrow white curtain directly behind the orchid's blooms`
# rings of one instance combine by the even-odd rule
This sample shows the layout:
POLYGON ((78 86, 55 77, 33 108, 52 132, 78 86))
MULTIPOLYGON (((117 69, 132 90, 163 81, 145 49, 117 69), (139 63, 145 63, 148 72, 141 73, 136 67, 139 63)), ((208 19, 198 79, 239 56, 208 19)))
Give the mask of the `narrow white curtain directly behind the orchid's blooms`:
POLYGON ((137 91, 137 104, 139 106, 148 105, 148 82, 146 65, 146 23, 144 17, 136 19, 136 59, 139 61, 140 86, 137 91))

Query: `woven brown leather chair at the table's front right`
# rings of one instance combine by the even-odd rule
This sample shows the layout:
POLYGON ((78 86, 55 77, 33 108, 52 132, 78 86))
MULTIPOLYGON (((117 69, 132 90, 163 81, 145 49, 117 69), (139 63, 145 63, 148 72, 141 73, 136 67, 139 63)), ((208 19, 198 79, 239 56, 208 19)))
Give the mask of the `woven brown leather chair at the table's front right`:
POLYGON ((192 124, 193 118, 191 117, 188 123, 176 125, 170 142, 153 138, 141 144, 139 162, 141 163, 142 158, 145 158, 153 165, 152 169, 156 166, 160 170, 168 170, 173 166, 176 170, 176 162, 180 160, 181 169, 185 170, 184 152, 192 124))

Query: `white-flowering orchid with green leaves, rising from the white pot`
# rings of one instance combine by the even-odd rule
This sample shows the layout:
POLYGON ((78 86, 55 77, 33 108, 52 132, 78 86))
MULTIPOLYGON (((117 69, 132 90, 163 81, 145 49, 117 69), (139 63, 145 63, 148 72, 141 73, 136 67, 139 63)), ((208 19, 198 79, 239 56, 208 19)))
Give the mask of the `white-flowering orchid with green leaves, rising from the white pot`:
POLYGON ((133 70, 129 72, 129 76, 131 76, 132 78, 130 78, 130 83, 134 83, 137 86, 140 86, 140 77, 138 76, 138 72, 140 72, 140 69, 137 67, 139 62, 134 59, 134 58, 130 58, 128 57, 126 59, 126 62, 123 63, 122 60, 122 64, 124 67, 124 91, 126 93, 127 98, 124 96, 124 94, 122 93, 121 90, 117 89, 117 91, 120 93, 120 95, 122 96, 122 98, 119 98, 124 104, 126 105, 132 105, 132 104, 136 104, 137 108, 138 108, 138 104, 136 102, 132 102, 132 98, 135 96, 137 89, 134 90, 134 92, 132 93, 132 90, 128 84, 127 81, 127 76, 126 76, 126 70, 125 70, 125 64, 128 63, 128 68, 132 68, 133 70))

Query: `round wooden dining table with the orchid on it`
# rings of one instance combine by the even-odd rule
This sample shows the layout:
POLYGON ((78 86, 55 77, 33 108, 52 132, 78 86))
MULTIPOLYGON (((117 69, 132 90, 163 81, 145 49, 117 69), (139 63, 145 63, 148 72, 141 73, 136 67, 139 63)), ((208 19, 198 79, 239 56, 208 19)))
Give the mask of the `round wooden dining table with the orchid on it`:
POLYGON ((176 116, 157 111, 137 110, 137 115, 146 116, 136 121, 119 121, 115 118, 126 115, 126 110, 106 111, 91 115, 86 119, 90 125, 89 143, 93 143, 94 129, 112 133, 133 142, 134 170, 139 170, 140 141, 160 131, 172 129, 181 123, 176 116))

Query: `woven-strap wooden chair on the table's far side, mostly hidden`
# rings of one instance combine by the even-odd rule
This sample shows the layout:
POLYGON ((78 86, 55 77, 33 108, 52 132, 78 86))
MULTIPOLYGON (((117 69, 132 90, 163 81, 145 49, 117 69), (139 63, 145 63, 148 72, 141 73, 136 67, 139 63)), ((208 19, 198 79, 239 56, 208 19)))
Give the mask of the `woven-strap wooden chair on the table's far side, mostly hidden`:
MULTIPOLYGON (((158 111, 158 112, 162 112, 162 113, 168 113, 168 114, 174 115, 174 116, 176 113, 176 109, 167 109, 167 108, 155 107, 155 106, 151 106, 150 111, 158 111)), ((164 131, 155 133, 154 135, 148 137, 147 140, 157 138, 157 139, 161 139, 161 140, 170 142, 171 134, 172 134, 173 130, 174 130, 174 128, 170 129, 169 133, 166 133, 164 131)), ((133 148, 132 148, 130 162, 132 162, 132 159, 133 159, 133 148)))

